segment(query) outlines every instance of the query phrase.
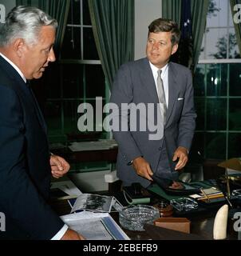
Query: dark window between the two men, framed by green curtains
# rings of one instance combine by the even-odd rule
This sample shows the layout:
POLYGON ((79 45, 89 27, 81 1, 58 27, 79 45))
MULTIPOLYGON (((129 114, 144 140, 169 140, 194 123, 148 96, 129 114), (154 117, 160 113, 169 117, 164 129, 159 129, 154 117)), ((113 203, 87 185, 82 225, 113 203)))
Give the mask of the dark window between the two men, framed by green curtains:
MULTIPOLYGON (((80 134, 77 120, 81 114, 77 113, 77 107, 81 103, 88 102, 95 107, 96 97, 102 97, 104 106, 109 99, 93 38, 88 0, 71 0, 60 56, 60 61, 51 64, 51 71, 46 72, 49 82, 45 89, 45 118, 52 146, 69 142, 68 134, 80 134)), ((98 135, 99 138, 109 136, 104 131, 98 135)), ((72 168, 89 171, 106 169, 106 166, 106 162, 97 162, 72 165, 72 168)))

